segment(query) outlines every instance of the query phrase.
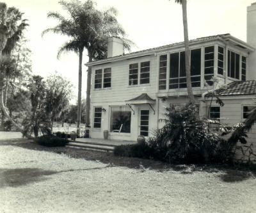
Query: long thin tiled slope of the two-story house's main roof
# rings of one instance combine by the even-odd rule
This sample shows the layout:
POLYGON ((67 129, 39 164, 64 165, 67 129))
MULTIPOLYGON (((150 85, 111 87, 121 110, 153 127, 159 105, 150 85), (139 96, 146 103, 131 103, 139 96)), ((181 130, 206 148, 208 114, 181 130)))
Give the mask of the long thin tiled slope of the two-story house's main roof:
MULTIPOLYGON (((189 43, 203 42, 203 41, 211 40, 211 39, 214 39, 214 38, 221 38, 221 37, 228 36, 228 35, 230 35, 230 34, 226 33, 226 34, 196 38, 196 39, 193 39, 193 40, 189 40, 189 43)), ((111 58, 118 58, 118 57, 121 57, 121 56, 128 56, 128 55, 132 55, 132 54, 136 54, 136 53, 140 53, 140 52, 157 51, 157 50, 161 50, 161 49, 168 48, 168 47, 176 47, 176 46, 179 46, 179 45, 184 45, 184 42, 171 43, 171 44, 163 45, 163 46, 160 46, 160 47, 153 47, 153 48, 150 48, 150 49, 145 49, 143 51, 129 52, 127 54, 123 54, 123 55, 120 55, 120 56, 114 56, 114 57, 111 57, 111 58)), ((99 61, 103 61, 103 60, 105 60, 105 59, 102 59, 102 60, 99 60, 99 61)))

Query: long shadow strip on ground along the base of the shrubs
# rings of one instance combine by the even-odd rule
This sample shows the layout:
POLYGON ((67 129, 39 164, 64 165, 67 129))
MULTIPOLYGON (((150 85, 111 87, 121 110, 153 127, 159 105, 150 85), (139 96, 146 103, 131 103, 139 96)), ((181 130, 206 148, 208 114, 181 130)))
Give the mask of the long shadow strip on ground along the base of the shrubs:
MULTIPOLYGON (((12 141, 15 142, 15 141, 12 141)), ((166 164, 160 161, 153 161, 150 159, 139 159, 132 157, 117 157, 113 153, 109 152, 96 152, 90 150, 79 150, 76 148, 66 148, 66 147, 45 147, 40 146, 35 143, 24 142, 19 143, 0 143, 1 145, 13 145, 20 146, 22 148, 27 148, 30 150, 39 150, 45 152, 54 152, 56 154, 66 154, 69 157, 74 157, 78 159, 85 159, 89 161, 99 161, 110 166, 124 166, 127 168, 137 169, 140 171, 145 170, 156 170, 159 172, 164 171, 179 171, 184 175, 191 175, 195 172, 207 172, 207 173, 216 173, 216 175, 223 182, 240 182, 249 178, 256 178, 256 170, 249 170, 246 167, 234 167, 230 165, 173 165, 166 164)))

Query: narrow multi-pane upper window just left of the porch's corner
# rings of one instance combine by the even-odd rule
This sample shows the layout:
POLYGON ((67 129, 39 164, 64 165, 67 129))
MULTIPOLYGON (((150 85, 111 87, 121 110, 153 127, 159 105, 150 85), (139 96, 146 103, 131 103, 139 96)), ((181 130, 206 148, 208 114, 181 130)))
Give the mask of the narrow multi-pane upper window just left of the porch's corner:
POLYGON ((204 79, 208 85, 212 85, 211 81, 214 75, 214 46, 205 47, 204 49, 204 79))

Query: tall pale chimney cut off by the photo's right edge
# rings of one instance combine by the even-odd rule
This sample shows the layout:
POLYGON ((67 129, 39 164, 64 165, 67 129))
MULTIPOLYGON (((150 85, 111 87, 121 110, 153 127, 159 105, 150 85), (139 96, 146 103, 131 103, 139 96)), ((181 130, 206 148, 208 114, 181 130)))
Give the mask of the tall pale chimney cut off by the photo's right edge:
MULTIPOLYGON (((247 43, 256 49, 256 3, 247 7, 247 43)), ((248 80, 256 80, 256 51, 248 56, 248 80)))

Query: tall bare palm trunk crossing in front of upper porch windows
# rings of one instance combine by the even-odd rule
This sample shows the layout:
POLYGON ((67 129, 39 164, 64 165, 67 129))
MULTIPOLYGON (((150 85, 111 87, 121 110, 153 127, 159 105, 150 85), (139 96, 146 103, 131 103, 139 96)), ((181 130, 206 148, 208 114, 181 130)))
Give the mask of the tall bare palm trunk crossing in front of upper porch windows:
POLYGON ((193 95, 190 74, 190 51, 188 40, 188 19, 187 19, 187 0, 182 0, 182 15, 183 15, 183 28, 184 28, 184 43, 185 43, 185 64, 186 64, 186 80, 189 102, 195 104, 195 97, 193 95))

